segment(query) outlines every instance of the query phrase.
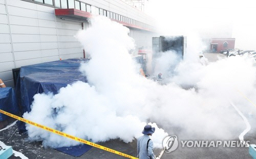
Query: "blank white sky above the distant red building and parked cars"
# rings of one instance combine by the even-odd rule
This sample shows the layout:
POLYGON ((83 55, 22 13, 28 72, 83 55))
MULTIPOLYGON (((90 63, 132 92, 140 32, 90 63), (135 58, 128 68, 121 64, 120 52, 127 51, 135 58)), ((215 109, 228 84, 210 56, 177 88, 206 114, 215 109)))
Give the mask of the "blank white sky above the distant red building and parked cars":
POLYGON ((236 38, 236 48, 256 50, 256 6, 252 0, 149 0, 144 10, 156 19, 163 34, 236 38))

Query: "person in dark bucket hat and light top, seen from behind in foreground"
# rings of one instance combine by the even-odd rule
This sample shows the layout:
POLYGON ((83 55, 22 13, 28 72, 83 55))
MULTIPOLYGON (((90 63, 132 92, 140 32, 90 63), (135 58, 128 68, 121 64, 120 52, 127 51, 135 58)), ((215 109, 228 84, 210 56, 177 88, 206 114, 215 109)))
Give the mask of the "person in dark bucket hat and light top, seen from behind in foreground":
POLYGON ((142 131, 143 136, 139 137, 137 141, 137 156, 139 159, 154 159, 156 158, 153 152, 153 141, 150 136, 155 132, 155 127, 146 125, 142 131))

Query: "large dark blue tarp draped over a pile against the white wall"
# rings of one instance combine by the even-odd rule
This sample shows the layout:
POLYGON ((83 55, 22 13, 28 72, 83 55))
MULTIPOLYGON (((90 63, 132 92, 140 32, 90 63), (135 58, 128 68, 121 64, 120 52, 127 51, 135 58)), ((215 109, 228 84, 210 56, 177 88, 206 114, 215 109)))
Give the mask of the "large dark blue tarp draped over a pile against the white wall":
MULTIPOLYGON (((80 64, 88 59, 68 59, 53 61, 20 68, 15 94, 20 113, 30 112, 33 96, 37 93, 57 94, 61 87, 76 81, 87 82, 86 76, 79 71, 80 64)), ((26 130, 23 122, 18 122, 19 130, 26 130)))

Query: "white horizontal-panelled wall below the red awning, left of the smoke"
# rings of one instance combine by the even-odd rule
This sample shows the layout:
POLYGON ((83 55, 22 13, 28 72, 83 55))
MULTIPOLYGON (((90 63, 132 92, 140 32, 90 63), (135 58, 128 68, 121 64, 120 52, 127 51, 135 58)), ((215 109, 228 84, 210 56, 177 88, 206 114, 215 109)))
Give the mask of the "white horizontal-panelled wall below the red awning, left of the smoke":
POLYGON ((82 58, 74 37, 81 27, 81 22, 55 17, 53 7, 0 0, 0 78, 13 87, 13 68, 82 58))

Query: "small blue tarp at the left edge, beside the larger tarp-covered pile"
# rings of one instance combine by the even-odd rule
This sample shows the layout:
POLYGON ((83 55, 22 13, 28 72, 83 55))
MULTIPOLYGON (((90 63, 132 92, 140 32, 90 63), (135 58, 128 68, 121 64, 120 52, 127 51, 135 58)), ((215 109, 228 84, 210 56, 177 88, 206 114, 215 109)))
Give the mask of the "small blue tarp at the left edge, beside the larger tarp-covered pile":
MULTIPOLYGON (((11 114, 18 113, 14 90, 11 87, 0 88, 0 109, 11 114)), ((0 121, 7 118, 8 117, 6 115, 0 113, 0 121)))

